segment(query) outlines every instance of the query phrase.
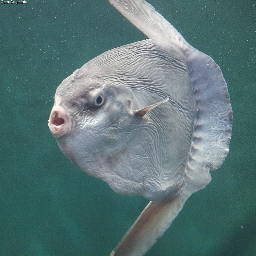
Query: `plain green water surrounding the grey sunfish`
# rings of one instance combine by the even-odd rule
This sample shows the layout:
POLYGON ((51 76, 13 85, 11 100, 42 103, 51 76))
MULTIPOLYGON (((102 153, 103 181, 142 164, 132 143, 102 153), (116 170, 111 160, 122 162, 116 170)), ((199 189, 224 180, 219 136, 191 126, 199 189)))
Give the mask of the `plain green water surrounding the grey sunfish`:
MULTIPOLYGON (((256 255, 255 1, 151 0, 223 71, 230 153, 147 256, 256 255)), ((47 120, 61 81, 93 57, 146 37, 107 0, 0 4, 0 255, 108 256, 147 204, 89 177, 47 120)))

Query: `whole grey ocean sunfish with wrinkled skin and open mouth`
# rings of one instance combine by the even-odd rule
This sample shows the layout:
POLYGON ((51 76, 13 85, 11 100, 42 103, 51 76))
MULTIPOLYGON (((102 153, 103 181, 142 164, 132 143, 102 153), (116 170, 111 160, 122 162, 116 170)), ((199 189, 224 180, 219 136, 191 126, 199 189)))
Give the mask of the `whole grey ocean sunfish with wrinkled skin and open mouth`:
POLYGON ((104 52, 63 80, 49 128, 79 169, 150 200, 111 256, 145 254, 225 160, 227 84, 144 0, 109 0, 148 39, 104 52))

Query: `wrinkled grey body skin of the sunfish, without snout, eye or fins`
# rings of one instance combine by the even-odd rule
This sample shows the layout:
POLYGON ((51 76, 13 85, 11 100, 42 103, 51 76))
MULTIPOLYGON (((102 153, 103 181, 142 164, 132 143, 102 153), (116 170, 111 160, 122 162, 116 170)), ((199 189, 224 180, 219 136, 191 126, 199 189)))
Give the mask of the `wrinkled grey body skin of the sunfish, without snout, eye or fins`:
POLYGON ((176 191, 195 105, 183 58, 175 47, 166 52, 148 39, 105 52, 77 69, 55 94, 71 119, 70 130, 57 140, 63 153, 118 193, 156 200, 176 191), (99 95, 104 102, 97 106, 99 95), (132 109, 140 109, 165 98, 169 101, 144 117, 128 113, 128 100, 132 109))

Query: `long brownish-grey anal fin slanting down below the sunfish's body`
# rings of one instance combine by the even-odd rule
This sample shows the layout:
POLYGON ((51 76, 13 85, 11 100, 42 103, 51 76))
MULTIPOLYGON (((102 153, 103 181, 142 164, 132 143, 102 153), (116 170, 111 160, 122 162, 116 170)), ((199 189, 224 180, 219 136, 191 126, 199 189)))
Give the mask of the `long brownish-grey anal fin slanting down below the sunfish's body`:
POLYGON ((190 195, 181 191, 173 199, 150 201, 110 256, 144 255, 171 225, 190 195))

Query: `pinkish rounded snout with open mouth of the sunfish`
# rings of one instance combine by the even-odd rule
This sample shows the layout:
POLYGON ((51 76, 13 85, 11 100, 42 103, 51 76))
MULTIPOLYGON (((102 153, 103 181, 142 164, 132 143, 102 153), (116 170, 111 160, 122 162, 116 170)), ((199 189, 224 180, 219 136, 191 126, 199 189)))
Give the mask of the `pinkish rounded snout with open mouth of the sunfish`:
POLYGON ((71 130, 71 118, 67 111, 60 106, 53 106, 50 118, 48 120, 48 126, 52 135, 55 138, 60 138, 66 135, 71 130))

